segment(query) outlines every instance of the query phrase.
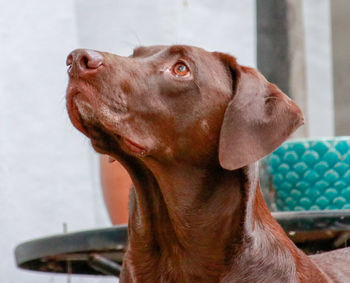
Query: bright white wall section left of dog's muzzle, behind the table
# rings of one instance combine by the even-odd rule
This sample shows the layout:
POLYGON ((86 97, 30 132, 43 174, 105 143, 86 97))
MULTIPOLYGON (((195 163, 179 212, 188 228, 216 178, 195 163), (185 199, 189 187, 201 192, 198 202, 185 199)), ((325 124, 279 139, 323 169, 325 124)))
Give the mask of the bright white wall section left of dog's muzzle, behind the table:
POLYGON ((70 231, 109 224, 89 144, 65 110, 65 58, 78 46, 73 2, 0 6, 0 282, 50 282, 15 267, 17 244, 61 233, 63 222, 70 231))

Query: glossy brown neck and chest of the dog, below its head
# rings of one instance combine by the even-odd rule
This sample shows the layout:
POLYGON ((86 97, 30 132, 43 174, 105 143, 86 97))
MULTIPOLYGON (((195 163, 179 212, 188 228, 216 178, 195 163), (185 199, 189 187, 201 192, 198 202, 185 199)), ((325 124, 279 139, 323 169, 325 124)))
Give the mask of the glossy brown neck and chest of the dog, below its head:
POLYGON ((232 272, 237 282, 259 282, 256 276, 264 272, 271 280, 296 282, 296 262, 306 256, 268 211, 257 164, 235 171, 140 167, 133 177, 126 258, 134 272, 157 266, 165 272, 147 272, 168 274, 176 282, 225 282, 225 276, 236 282, 232 272))

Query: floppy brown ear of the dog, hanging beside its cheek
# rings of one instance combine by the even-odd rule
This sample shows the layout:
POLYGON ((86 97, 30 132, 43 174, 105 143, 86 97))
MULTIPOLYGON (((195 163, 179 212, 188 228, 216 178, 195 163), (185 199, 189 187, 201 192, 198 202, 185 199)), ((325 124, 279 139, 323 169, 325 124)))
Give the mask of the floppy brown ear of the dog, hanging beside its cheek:
POLYGON ((233 89, 221 126, 219 161, 223 168, 234 170, 271 153, 304 118, 299 107, 257 70, 217 54, 232 77, 233 89))

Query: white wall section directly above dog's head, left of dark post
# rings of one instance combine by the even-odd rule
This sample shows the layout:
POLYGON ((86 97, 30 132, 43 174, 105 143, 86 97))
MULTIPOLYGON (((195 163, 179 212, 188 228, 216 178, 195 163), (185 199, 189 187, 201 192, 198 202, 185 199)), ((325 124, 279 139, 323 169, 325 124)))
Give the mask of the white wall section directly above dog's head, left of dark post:
POLYGON ((76 0, 83 47, 129 55, 137 45, 189 44, 255 66, 255 1, 76 0))

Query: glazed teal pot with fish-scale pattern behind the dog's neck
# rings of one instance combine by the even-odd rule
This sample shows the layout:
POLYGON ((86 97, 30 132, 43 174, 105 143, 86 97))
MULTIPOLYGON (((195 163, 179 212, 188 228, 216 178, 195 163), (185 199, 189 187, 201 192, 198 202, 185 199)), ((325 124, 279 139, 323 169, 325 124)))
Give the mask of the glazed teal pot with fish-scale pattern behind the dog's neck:
POLYGON ((288 141, 263 162, 278 210, 350 209, 350 137, 288 141))

